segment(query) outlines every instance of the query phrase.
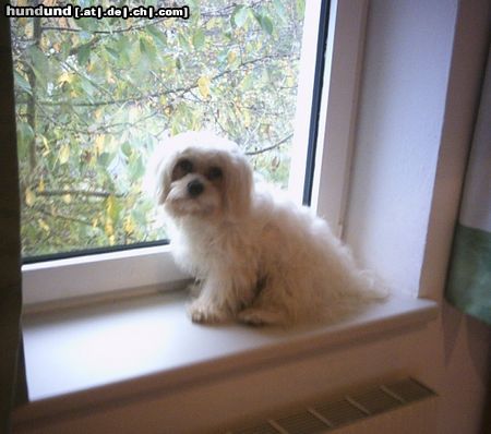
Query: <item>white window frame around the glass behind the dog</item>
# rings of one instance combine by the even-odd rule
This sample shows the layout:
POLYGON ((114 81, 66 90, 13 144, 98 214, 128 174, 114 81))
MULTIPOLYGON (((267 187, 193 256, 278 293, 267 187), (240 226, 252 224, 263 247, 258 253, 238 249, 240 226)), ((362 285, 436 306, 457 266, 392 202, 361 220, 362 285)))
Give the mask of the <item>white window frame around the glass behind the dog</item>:
MULTIPOLYGON (((309 20, 319 16, 320 3, 309 2, 306 8, 307 26, 309 20)), ((330 221, 337 234, 342 234, 347 201, 367 5, 368 0, 331 1, 312 207, 330 221)), ((312 57, 312 52, 306 56, 312 57)), ((302 82, 302 86, 309 83, 302 82)), ((299 88, 300 92, 306 91, 299 88)), ((297 113, 310 110, 309 104, 303 101, 297 113)), ((297 125, 301 123, 297 114, 297 125)), ((291 160, 297 169, 291 172, 290 185, 298 184, 300 177, 303 181, 304 166, 298 161, 307 159, 303 155, 307 137, 308 128, 296 129, 291 160)), ((299 202, 299 191, 292 193, 299 202)), ((81 298, 113 298, 135 291, 176 289, 189 279, 173 263, 170 245, 27 264, 23 265, 22 274, 27 312, 59 303, 79 303, 81 298)))

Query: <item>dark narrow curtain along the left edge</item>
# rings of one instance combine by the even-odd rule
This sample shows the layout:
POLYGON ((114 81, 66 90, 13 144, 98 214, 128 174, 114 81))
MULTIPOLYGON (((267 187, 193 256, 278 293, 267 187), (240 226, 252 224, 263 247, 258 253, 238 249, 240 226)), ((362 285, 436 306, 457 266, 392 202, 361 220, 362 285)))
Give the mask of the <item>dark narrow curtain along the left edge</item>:
MULTIPOLYGON (((1 2, 3 10, 4 2, 1 2)), ((25 399, 20 317, 20 200, 9 20, 0 16, 0 433, 25 399), (21 387, 21 388, 20 388, 21 387)))

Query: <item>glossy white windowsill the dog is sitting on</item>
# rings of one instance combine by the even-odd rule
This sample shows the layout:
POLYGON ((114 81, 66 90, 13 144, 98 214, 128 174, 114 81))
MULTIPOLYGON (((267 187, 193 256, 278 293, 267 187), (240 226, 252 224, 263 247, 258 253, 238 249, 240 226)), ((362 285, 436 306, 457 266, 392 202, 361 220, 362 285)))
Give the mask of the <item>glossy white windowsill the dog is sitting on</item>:
POLYGON ((433 301, 395 296, 331 326, 252 328, 192 324, 185 294, 170 292, 23 318, 31 403, 20 423, 84 411, 169 387, 280 364, 340 345, 380 338, 436 316, 433 301))

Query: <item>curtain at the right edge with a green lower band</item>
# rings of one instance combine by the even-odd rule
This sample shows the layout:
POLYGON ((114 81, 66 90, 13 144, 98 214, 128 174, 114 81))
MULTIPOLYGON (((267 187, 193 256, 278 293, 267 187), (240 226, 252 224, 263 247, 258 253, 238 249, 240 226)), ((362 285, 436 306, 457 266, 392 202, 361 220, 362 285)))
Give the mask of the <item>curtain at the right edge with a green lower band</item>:
POLYGON ((445 296, 462 311, 491 325, 491 50, 445 296))

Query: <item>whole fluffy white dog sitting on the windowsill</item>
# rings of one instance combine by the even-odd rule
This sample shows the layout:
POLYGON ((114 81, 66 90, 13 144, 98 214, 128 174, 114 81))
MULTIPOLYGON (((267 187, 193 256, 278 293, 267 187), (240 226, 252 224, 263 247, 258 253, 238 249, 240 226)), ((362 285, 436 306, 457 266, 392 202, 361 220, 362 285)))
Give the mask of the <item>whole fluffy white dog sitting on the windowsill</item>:
POLYGON ((338 320, 384 298, 327 224, 253 184, 247 157, 212 133, 169 138, 154 158, 172 253, 194 278, 193 322, 338 320))

